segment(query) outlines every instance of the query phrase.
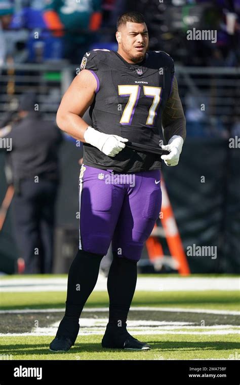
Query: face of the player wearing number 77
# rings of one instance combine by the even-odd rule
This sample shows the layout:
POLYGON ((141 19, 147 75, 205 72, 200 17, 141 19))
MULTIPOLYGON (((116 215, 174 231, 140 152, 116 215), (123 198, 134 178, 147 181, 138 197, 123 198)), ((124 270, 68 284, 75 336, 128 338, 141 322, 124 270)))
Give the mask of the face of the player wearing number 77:
POLYGON ((148 32, 145 23, 127 22, 116 32, 118 53, 133 63, 144 59, 148 49, 148 32))

